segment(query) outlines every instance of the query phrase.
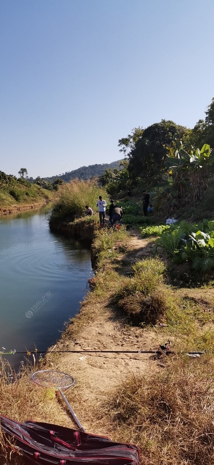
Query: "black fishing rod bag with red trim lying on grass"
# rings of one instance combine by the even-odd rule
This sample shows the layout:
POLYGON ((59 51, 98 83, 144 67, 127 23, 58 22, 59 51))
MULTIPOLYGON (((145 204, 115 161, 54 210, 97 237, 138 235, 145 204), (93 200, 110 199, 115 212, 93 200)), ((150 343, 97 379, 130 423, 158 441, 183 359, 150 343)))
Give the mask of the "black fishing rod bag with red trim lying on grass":
POLYGON ((25 421, 0 415, 7 444, 30 461, 41 465, 139 465, 136 445, 113 442, 64 426, 25 421))

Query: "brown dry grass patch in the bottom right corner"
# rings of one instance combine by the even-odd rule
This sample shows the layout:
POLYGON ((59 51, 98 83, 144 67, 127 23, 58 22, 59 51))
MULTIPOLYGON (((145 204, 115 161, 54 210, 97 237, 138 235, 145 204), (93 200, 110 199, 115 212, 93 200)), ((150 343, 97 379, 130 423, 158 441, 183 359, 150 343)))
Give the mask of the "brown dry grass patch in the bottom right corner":
POLYGON ((119 440, 139 445, 143 464, 211 465, 213 360, 174 359, 165 370, 129 377, 113 392, 105 419, 119 440))

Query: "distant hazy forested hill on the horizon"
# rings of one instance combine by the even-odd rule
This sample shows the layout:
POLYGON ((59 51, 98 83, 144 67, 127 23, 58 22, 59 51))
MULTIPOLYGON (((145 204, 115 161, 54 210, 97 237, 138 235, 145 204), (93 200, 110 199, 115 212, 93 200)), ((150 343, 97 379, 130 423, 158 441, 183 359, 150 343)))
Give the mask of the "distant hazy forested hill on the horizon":
POLYGON ((65 182, 69 182, 71 179, 91 179, 94 176, 101 176, 102 173, 106 169, 111 168, 112 170, 114 168, 119 168, 120 161, 122 160, 117 160, 113 161, 112 163, 102 163, 101 165, 89 165, 89 166, 81 166, 81 168, 78 168, 77 170, 73 171, 67 171, 65 174, 61 174, 59 176, 52 176, 51 178, 44 178, 47 181, 54 181, 57 178, 63 179, 65 182))

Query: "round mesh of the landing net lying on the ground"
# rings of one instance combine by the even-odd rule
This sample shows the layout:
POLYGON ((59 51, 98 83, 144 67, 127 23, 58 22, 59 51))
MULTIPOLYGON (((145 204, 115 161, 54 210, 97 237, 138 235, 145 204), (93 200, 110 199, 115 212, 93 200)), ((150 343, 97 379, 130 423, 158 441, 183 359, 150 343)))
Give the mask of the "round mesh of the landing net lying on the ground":
POLYGON ((41 370, 31 376, 34 383, 53 389, 63 389, 74 384, 74 378, 68 373, 55 372, 53 370, 41 370))

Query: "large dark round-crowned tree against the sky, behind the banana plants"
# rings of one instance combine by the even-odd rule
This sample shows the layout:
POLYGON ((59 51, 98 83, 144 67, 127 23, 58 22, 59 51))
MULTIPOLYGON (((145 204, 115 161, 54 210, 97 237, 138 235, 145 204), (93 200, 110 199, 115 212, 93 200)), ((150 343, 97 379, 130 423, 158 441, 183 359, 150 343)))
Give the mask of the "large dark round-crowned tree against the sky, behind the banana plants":
POLYGON ((181 139, 186 131, 186 127, 166 120, 148 126, 128 153, 132 182, 141 178, 147 185, 156 183, 164 169, 164 145, 170 145, 175 137, 181 139))

